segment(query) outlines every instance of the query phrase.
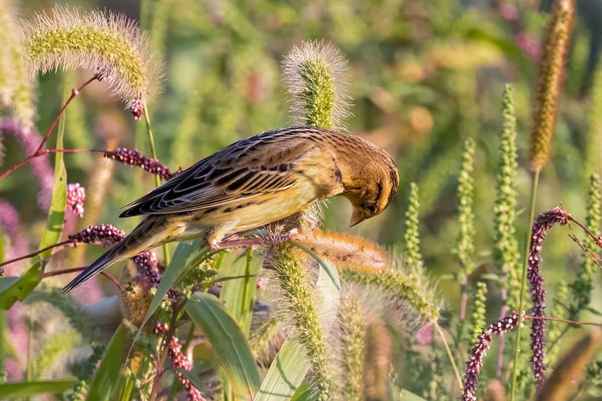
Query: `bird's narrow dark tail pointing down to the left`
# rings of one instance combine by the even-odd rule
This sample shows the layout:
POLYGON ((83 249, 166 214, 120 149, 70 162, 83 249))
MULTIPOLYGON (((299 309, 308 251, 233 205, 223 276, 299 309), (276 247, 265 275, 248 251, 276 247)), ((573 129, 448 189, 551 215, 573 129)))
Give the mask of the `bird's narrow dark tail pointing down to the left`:
POLYGON ((168 218, 165 215, 153 215, 141 222, 134 231, 128 234, 121 242, 105 252, 95 260, 63 289, 63 295, 81 286, 85 281, 102 272, 104 269, 129 259, 137 254, 148 251, 167 242, 172 233, 169 233, 168 218))

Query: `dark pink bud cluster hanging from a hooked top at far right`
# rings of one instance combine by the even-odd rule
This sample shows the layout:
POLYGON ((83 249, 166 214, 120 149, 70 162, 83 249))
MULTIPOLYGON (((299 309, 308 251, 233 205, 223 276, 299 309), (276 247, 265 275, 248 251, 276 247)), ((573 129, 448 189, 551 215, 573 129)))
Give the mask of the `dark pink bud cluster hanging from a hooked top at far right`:
MULTIPOLYGON (((556 223, 565 225, 568 223, 569 213, 566 210, 560 209, 560 207, 554 207, 552 210, 548 210, 545 213, 537 216, 533 223, 533 231, 531 236, 531 245, 529 251, 529 267, 527 268, 527 280, 531 284, 529 292, 531 293, 531 301, 533 302, 533 309, 531 316, 544 316, 545 309, 545 294, 544 290, 544 278, 541 275, 541 268, 539 262, 541 262, 541 245, 545 239, 545 235, 548 230, 556 223)), ((531 323, 531 350, 533 355, 531 356, 531 364, 533 365, 533 375, 537 381, 544 380, 544 371, 546 370, 544 364, 545 358, 545 320, 533 319, 531 323)))

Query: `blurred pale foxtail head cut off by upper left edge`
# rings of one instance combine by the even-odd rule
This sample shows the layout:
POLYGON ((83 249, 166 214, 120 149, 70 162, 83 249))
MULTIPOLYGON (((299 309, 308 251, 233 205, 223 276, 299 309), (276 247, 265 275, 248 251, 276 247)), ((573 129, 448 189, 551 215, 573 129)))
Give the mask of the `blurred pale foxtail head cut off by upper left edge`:
POLYGON ((36 111, 33 106, 32 82, 23 65, 23 49, 17 31, 15 5, 0 0, 0 106, 10 108, 13 118, 23 128, 33 126, 36 111))

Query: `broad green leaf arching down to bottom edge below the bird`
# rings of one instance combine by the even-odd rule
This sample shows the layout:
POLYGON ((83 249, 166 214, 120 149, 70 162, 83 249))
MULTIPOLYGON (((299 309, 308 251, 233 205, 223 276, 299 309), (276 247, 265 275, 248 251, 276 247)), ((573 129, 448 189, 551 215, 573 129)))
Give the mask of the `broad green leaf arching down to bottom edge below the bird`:
POLYGON ((234 391, 235 399, 252 400, 261 380, 249 343, 222 301, 209 293, 196 293, 184 307, 205 334, 234 391))

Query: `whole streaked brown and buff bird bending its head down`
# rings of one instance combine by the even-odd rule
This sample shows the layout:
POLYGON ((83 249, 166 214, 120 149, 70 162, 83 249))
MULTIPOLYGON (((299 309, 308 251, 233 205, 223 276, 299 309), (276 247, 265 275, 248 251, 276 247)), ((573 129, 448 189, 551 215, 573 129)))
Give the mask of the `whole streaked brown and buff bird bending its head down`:
POLYGON ((359 136, 309 126, 249 136, 124 206, 119 217, 146 218, 63 293, 164 243, 202 237, 213 249, 232 246, 235 241, 224 245, 222 240, 298 215, 330 197, 350 201, 353 226, 383 212, 398 186, 399 170, 391 155, 359 136))

